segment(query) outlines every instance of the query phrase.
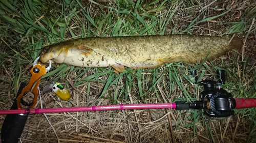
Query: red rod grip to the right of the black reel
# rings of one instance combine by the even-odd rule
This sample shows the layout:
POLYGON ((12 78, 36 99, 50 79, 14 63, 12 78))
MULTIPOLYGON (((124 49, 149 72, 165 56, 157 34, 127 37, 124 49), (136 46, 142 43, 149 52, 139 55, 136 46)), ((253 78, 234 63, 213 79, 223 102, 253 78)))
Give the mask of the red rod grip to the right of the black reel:
POLYGON ((234 98, 236 109, 256 107, 256 98, 234 98))

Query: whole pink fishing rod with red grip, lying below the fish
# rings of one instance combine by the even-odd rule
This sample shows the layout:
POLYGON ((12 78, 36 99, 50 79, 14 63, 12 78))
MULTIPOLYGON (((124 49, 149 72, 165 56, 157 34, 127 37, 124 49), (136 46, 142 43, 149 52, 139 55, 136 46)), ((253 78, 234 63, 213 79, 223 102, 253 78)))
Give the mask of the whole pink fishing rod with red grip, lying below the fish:
MULTIPOLYGON (((211 97, 214 99, 214 97, 211 97)), ((103 106, 82 106, 82 107, 62 107, 62 108, 37 108, 37 109, 14 109, 0 110, 0 115, 10 114, 39 114, 39 113, 59 113, 59 112, 80 112, 80 111, 102 111, 102 110, 125 110, 125 109, 159 109, 173 108, 177 110, 204 109, 208 117, 228 117, 233 114, 233 109, 256 107, 256 98, 226 98, 219 96, 215 101, 195 101, 185 103, 157 103, 157 104, 119 104, 103 106)))

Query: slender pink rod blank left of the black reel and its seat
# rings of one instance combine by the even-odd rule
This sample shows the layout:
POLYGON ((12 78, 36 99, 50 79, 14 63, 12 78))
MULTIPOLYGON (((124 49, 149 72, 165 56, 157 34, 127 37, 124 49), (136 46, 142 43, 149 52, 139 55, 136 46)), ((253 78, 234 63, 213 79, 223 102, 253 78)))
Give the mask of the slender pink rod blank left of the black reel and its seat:
POLYGON ((20 113, 55 113, 55 112, 79 112, 79 111, 100 111, 100 110, 123 110, 123 109, 158 109, 158 108, 176 108, 176 103, 158 103, 158 104, 120 104, 104 105, 91 107, 63 107, 63 108, 42 108, 42 109, 17 109, 0 110, 0 115, 20 114, 20 113))

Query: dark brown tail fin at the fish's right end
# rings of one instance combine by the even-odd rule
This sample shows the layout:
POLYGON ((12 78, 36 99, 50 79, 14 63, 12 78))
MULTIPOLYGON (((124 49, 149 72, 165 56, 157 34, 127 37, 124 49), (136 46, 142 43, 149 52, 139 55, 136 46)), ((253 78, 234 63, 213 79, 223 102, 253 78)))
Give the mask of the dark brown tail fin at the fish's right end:
POLYGON ((243 38, 245 36, 245 33, 234 33, 230 35, 231 41, 229 43, 230 49, 241 49, 243 46, 243 38))

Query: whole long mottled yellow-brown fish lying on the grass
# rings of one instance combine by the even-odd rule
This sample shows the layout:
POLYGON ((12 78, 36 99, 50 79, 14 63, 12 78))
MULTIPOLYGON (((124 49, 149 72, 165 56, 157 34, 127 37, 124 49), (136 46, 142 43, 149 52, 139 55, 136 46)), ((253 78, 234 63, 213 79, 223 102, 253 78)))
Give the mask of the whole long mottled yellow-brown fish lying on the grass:
POLYGON ((155 68, 165 63, 196 63, 219 58, 243 45, 242 34, 224 36, 150 35, 89 37, 55 43, 42 48, 40 62, 52 60, 77 67, 155 68))

